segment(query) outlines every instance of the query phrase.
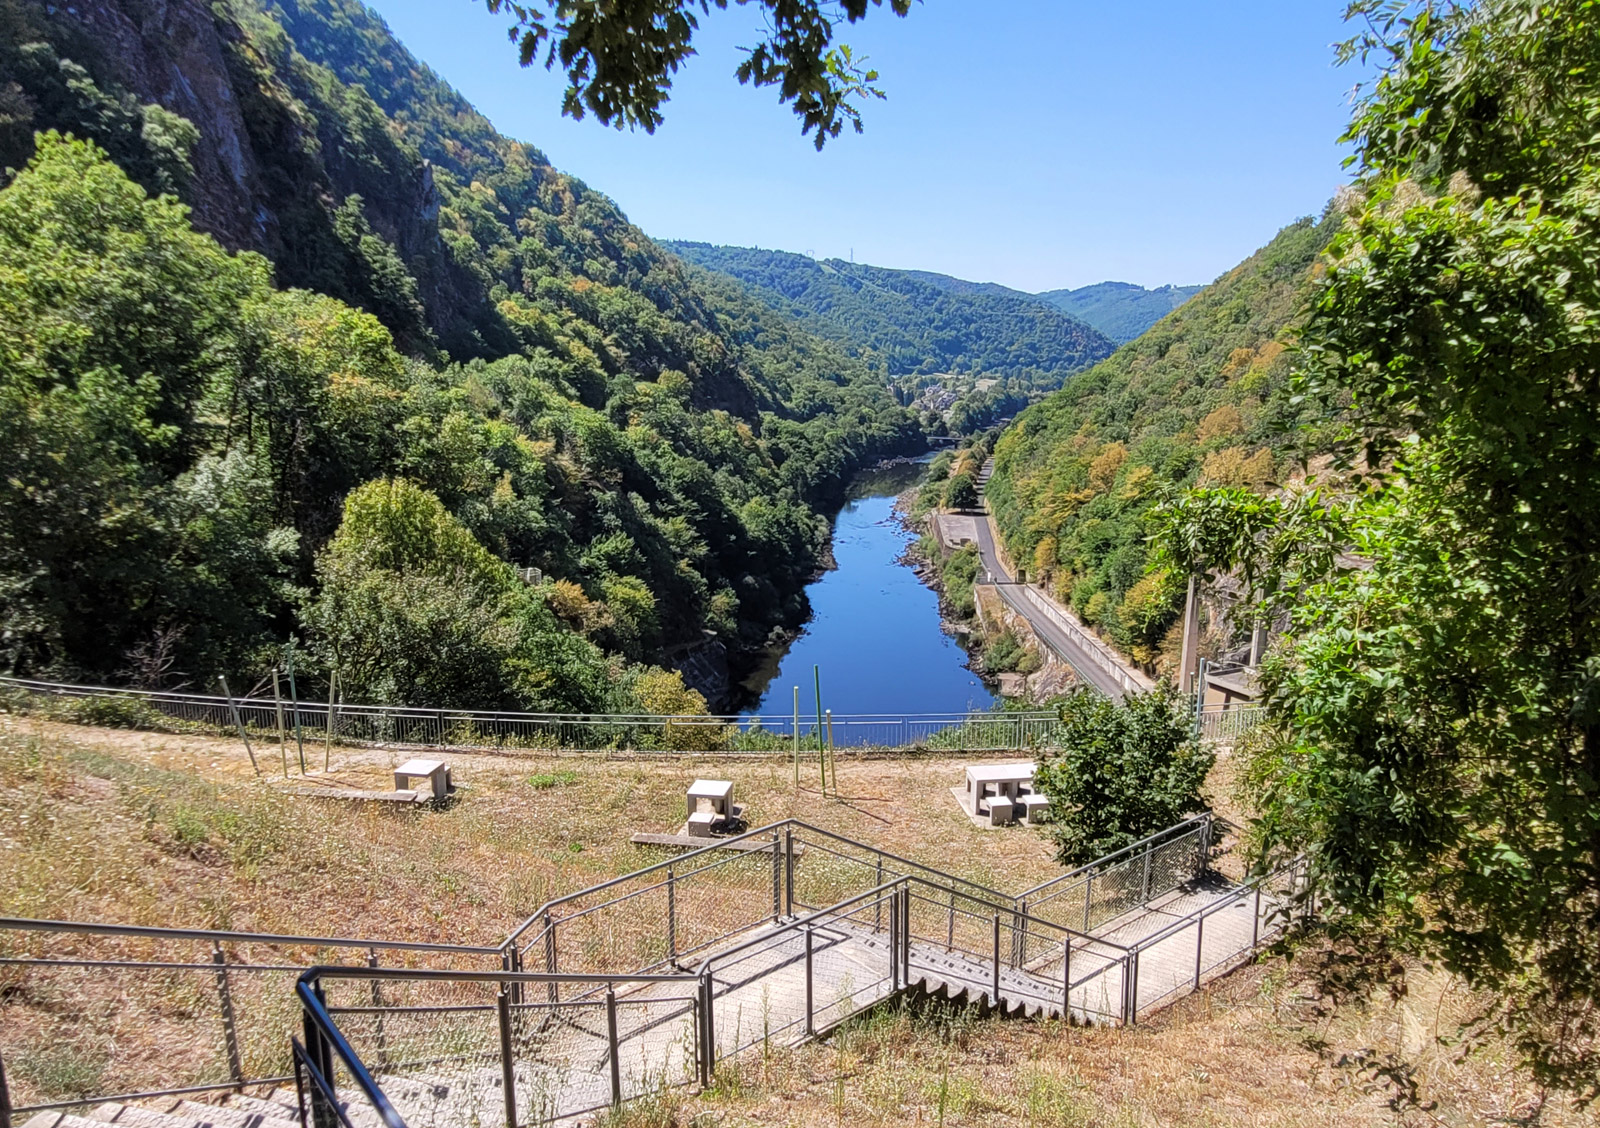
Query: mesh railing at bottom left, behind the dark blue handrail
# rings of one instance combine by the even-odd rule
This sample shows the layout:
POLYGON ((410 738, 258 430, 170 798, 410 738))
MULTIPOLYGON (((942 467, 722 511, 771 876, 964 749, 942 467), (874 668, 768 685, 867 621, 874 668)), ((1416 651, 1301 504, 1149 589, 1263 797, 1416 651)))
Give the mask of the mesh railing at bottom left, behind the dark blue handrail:
POLYGON ((318 963, 493 968, 493 947, 0 918, 13 1110, 286 1083, 294 978, 318 963))

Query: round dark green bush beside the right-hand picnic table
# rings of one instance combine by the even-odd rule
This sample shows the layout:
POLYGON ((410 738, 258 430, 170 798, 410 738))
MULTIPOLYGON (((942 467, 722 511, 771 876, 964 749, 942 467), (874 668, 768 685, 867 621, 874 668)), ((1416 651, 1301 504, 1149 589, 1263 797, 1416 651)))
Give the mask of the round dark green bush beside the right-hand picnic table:
POLYGON ((1122 702, 1078 690, 1061 702, 1061 749, 1038 763, 1064 866, 1082 866, 1206 810, 1216 762, 1173 690, 1122 702))

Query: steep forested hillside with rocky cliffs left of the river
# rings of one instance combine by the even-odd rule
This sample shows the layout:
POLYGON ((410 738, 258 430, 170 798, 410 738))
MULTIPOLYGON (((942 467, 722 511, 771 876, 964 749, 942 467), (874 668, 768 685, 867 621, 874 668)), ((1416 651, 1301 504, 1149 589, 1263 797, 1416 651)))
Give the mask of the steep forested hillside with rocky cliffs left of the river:
POLYGON ((678 707, 922 446, 352 0, 0 0, 0 669, 678 707))

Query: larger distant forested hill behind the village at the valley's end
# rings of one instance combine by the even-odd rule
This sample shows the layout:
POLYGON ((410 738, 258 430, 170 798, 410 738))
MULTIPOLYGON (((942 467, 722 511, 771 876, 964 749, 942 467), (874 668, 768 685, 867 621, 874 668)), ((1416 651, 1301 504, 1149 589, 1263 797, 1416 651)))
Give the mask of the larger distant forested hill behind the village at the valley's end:
POLYGON ((949 413, 955 430, 989 426, 1032 394, 1061 387, 1114 347, 1083 322, 1005 286, 787 251, 669 246, 837 341, 894 379, 906 400, 930 386, 954 386, 962 398, 949 413), (942 379, 947 374, 994 382, 976 387, 973 379, 942 379))

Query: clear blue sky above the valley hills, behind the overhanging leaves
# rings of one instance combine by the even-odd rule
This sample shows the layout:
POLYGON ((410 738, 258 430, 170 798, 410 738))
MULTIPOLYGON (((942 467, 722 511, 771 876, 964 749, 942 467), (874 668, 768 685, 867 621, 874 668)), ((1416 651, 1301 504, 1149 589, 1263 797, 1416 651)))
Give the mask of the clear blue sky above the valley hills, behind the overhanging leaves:
POLYGON ((1210 282, 1342 182, 1344 0, 925 0, 843 38, 882 72, 818 154, 739 86, 757 13, 702 19, 654 136, 560 115, 482 0, 368 0, 506 134, 664 238, 941 270, 1021 290, 1210 282))

